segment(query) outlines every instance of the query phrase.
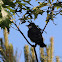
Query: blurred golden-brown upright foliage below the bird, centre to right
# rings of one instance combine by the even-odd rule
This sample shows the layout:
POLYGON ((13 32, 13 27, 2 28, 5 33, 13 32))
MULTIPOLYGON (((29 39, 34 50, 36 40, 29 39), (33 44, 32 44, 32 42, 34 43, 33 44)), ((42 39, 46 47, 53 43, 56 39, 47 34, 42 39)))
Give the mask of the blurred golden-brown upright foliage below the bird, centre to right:
MULTIPOLYGON (((46 51, 44 48, 40 48, 38 52, 40 52, 40 62, 60 62, 59 56, 56 56, 56 60, 54 61, 54 41, 53 37, 50 38, 50 45, 46 47, 46 51)), ((25 56, 25 62, 36 62, 35 59, 35 52, 33 47, 30 47, 28 45, 25 45, 24 47, 24 56, 25 56), (29 52, 27 52, 29 51, 29 52), (27 59, 27 60, 26 60, 27 59)))

